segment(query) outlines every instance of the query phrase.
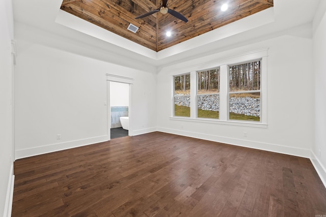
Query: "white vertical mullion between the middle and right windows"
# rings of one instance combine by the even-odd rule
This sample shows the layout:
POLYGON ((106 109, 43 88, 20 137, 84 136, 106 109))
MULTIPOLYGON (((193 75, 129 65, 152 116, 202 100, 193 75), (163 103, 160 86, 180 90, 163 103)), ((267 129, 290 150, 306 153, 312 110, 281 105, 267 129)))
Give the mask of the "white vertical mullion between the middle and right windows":
POLYGON ((228 120, 229 75, 228 65, 220 66, 220 120, 228 120))

